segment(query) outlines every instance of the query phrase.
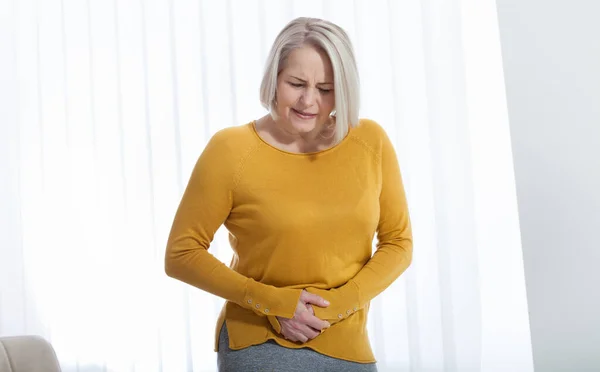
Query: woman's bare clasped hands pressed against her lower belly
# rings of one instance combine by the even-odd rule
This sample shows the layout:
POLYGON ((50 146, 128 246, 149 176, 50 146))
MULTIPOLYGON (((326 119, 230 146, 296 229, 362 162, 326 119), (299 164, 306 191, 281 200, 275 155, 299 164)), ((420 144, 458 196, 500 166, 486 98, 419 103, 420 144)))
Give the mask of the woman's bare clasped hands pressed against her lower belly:
POLYGON ((329 303, 322 297, 303 290, 298 299, 294 317, 292 319, 277 317, 281 325, 281 334, 286 340, 305 343, 320 335, 323 329, 331 326, 329 322, 315 316, 311 304, 320 307, 329 306, 329 303))

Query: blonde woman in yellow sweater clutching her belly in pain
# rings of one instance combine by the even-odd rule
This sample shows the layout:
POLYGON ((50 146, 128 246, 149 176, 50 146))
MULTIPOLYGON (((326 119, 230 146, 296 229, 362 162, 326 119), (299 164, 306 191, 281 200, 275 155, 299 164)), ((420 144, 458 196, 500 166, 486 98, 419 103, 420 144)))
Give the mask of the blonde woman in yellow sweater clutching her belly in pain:
POLYGON ((290 22, 260 93, 269 114, 218 132, 201 154, 165 270, 227 300, 220 371, 376 371, 369 302, 410 265, 412 235, 394 149, 378 124, 358 119, 346 33, 290 22), (230 268, 208 252, 222 224, 230 268))

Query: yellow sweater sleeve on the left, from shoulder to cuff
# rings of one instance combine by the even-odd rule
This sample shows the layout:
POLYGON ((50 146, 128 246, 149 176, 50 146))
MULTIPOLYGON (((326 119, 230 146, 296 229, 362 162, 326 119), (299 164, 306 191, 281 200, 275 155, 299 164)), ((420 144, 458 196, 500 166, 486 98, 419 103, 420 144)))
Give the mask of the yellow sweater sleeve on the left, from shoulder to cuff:
POLYGON ((291 318, 300 289, 277 288, 232 270, 208 252, 233 207, 241 160, 226 131, 200 155, 181 199, 165 253, 165 272, 254 313, 291 318))

